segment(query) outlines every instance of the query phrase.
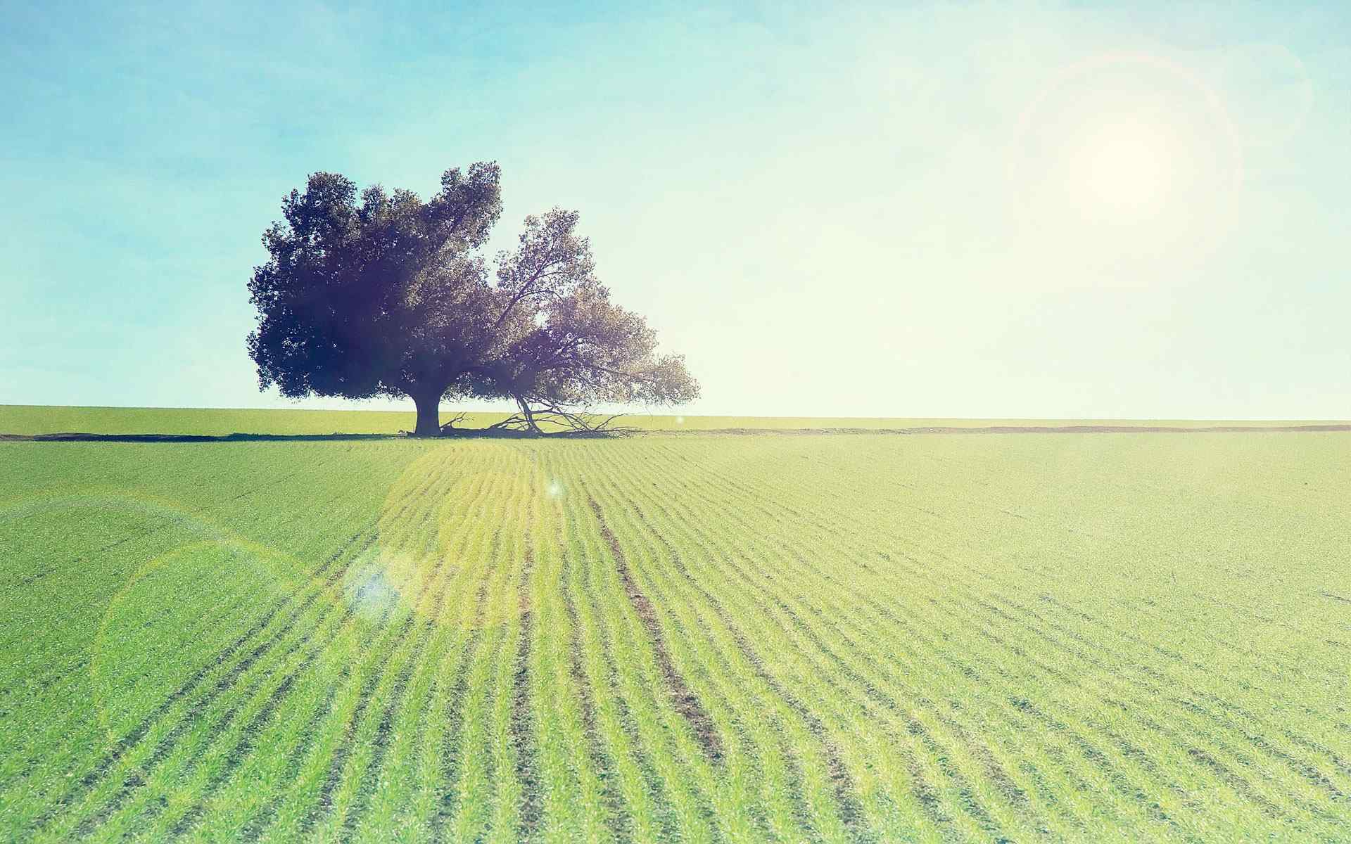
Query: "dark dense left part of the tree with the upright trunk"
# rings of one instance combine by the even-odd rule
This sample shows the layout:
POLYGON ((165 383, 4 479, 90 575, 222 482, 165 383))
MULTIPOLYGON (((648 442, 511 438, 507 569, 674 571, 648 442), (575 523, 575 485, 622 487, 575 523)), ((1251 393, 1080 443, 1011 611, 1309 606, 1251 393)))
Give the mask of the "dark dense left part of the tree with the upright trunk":
POLYGON ((477 361, 489 312, 473 250, 501 213, 499 169, 442 176, 423 203, 315 173, 263 232, 267 263, 249 284, 261 389, 282 396, 409 396, 417 433, 436 431, 442 393, 477 361))

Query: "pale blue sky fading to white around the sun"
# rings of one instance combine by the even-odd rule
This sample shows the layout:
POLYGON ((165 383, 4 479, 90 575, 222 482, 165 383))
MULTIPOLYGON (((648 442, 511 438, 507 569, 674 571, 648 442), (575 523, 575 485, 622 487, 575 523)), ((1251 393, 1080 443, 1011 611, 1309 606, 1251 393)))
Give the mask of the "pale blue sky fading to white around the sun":
POLYGON ((288 406, 281 196, 496 159, 688 412, 1351 417, 1351 7, 1182 5, 8 3, 0 402, 288 406))

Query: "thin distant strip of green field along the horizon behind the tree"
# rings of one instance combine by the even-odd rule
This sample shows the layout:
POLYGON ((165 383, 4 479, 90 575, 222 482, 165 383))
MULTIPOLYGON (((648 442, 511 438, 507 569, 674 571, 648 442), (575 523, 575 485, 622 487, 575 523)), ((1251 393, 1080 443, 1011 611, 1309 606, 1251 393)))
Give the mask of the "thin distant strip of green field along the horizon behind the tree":
MULTIPOLYGON (((450 421, 455 411, 442 408, 450 421)), ((462 427, 485 427, 505 413, 469 413, 462 427)), ((916 428, 985 425, 1082 425, 1100 420, 998 420, 998 419, 882 419, 824 416, 659 416, 632 413, 623 424, 646 431, 807 429, 807 428, 916 428)), ((1262 424, 1223 421, 1113 421, 1112 424, 1202 427, 1216 424, 1262 424)), ((1279 423, 1310 424, 1310 423, 1279 423)), ((413 428, 412 411, 231 411, 204 408, 66 408, 42 405, 0 405, 0 433, 397 433, 413 428)))

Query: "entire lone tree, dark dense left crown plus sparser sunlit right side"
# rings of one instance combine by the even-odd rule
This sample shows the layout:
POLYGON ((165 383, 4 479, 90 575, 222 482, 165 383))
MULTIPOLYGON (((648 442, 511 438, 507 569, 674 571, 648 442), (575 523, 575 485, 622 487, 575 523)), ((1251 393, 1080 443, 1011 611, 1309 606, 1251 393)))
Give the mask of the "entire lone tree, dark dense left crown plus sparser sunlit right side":
POLYGON ((577 213, 526 217, 515 251, 480 254, 501 213, 500 172, 447 170, 427 201, 315 173, 263 232, 249 354, 282 396, 409 396, 416 433, 444 396, 511 398, 512 424, 585 425, 594 404, 678 404, 698 385, 658 355, 643 317, 609 301, 577 213))

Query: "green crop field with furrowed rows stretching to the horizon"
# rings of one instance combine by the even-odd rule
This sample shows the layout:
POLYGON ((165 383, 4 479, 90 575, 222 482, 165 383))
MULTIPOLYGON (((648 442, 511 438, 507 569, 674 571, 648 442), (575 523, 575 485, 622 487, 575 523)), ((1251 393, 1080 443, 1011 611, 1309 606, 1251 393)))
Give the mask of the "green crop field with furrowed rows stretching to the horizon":
POLYGON ((1351 840, 1351 433, 0 466, 0 840, 1351 840))

